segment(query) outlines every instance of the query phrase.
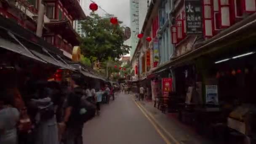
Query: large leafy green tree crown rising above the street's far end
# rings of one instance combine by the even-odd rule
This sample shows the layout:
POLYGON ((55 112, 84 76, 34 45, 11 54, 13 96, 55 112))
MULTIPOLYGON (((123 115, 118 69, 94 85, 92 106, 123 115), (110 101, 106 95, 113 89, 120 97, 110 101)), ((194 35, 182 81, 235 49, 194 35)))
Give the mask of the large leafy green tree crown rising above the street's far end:
POLYGON ((120 59, 130 50, 130 46, 124 44, 123 30, 124 27, 111 24, 109 19, 91 13, 82 22, 82 31, 86 32, 86 37, 81 38, 82 54, 90 59, 92 65, 96 61, 103 62, 109 58, 120 59))

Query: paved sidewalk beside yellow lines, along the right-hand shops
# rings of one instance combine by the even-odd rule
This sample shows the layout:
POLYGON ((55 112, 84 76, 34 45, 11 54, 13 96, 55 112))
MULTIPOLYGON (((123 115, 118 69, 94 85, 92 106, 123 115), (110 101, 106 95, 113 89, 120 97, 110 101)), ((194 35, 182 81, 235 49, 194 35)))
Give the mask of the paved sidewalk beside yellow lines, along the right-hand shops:
POLYGON ((155 121, 163 133, 176 144, 213 144, 213 142, 200 136, 192 128, 174 118, 171 113, 163 114, 154 107, 152 101, 138 101, 135 97, 133 99, 155 121))

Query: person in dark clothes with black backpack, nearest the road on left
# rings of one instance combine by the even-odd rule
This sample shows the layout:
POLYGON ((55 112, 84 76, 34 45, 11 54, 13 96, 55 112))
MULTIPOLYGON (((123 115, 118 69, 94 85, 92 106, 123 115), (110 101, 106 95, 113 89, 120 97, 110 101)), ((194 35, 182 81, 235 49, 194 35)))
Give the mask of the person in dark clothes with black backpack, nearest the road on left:
POLYGON ((84 80, 79 74, 71 76, 72 92, 67 98, 64 121, 60 123, 61 129, 66 130, 66 144, 83 144, 83 124, 95 115, 96 107, 86 100, 83 88, 84 80))

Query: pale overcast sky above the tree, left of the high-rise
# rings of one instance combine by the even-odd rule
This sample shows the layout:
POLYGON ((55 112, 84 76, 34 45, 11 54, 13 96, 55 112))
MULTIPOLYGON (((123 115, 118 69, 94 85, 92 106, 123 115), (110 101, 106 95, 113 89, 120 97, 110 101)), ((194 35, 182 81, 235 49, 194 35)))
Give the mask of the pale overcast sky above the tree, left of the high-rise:
MULTIPOLYGON (((130 27, 130 0, 93 0, 96 2, 102 9, 107 11, 109 14, 114 14, 117 19, 123 21, 123 25, 130 27)), ((89 15, 91 12, 89 10, 89 5, 91 1, 85 0, 83 3, 83 9, 86 15, 89 15)), ((97 13, 103 16, 106 12, 98 9, 97 13)))

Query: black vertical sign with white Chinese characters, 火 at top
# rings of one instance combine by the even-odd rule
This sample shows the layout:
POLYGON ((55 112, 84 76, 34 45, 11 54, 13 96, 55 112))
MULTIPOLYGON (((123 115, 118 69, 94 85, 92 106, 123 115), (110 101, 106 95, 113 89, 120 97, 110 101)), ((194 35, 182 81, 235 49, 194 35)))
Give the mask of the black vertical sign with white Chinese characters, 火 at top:
POLYGON ((185 0, 187 34, 203 33, 201 0, 185 0))

